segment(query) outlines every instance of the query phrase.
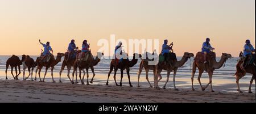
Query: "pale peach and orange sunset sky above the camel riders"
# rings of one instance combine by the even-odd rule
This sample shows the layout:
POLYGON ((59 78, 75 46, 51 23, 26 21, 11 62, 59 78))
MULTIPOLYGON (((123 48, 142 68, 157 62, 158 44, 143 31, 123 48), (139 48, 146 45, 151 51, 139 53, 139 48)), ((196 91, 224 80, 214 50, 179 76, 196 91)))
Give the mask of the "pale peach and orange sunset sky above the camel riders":
POLYGON ((0 0, 0 55, 39 55, 39 39, 50 41, 55 54, 64 53, 71 39, 80 48, 87 39, 96 54, 98 40, 115 34, 115 39, 127 41, 159 39, 159 45, 168 39, 178 56, 200 51, 209 37, 217 56, 238 56, 246 39, 255 44, 254 4, 255 0, 0 0))

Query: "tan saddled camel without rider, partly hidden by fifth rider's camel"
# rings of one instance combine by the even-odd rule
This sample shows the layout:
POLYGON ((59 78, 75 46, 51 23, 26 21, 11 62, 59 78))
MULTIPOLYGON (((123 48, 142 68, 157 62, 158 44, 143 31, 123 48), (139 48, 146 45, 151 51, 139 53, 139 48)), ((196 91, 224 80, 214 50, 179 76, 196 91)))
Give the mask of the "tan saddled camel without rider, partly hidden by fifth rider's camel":
MULTIPOLYGON (((151 86, 151 83, 150 83, 150 81, 148 80, 148 71, 149 71, 149 70, 153 70, 153 73, 154 73, 154 75, 155 75, 155 65, 148 65, 148 62, 149 62, 149 61, 154 62, 154 58, 152 58, 152 59, 149 59, 149 58, 148 58, 148 54, 151 54, 151 53, 146 52, 145 54, 146 54, 146 59, 142 59, 141 64, 139 64, 139 71, 138 71, 138 87, 140 87, 140 86, 139 86, 139 78, 140 78, 140 75, 141 75, 141 73, 142 73, 143 67, 144 67, 144 69, 145 69, 145 71, 146 71, 146 79, 147 79, 147 82, 148 82, 148 84, 150 85, 150 87, 153 87, 153 86, 151 86)), ((152 56, 155 55, 155 50, 154 50, 154 52, 153 52, 151 55, 152 55, 152 56)), ((157 61, 157 62, 158 62, 158 61, 157 61)), ((157 64, 157 63, 156 63, 156 64, 157 64)))

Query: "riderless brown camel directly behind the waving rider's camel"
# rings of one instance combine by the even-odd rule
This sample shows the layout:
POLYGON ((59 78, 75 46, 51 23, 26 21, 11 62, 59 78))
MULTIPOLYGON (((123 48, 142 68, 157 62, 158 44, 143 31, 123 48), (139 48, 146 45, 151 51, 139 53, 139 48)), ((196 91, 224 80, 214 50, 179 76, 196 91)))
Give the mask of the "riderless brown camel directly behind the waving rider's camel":
POLYGON ((34 68, 37 66, 37 62, 38 60, 35 62, 33 58, 31 58, 30 56, 26 56, 26 55, 22 55, 22 65, 23 65, 23 81, 28 79, 28 77, 30 77, 31 75, 31 81, 33 81, 33 71, 34 68), (25 77, 25 71, 28 68, 28 77, 25 77), (30 71, 31 69, 31 71, 30 71))

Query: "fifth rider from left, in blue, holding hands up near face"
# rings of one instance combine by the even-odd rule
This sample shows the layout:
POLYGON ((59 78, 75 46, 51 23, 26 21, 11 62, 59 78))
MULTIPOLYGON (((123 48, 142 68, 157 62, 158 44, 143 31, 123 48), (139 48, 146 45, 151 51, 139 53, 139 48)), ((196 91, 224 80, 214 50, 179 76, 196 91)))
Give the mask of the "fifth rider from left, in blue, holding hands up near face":
POLYGON ((172 50, 172 46, 174 45, 174 43, 171 43, 170 45, 168 44, 168 40, 164 40, 164 44, 162 45, 162 52, 161 54, 164 56, 164 61, 165 63, 168 63, 168 53, 170 53, 170 50, 172 50))

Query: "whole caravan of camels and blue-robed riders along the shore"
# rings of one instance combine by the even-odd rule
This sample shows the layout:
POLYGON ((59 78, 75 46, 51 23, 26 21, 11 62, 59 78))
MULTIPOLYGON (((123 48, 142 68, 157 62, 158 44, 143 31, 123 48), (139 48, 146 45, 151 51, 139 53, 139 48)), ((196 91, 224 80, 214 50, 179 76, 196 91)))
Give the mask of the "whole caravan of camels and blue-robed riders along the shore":
MULTIPOLYGON (((192 84, 192 91, 195 91, 195 88, 193 87, 193 79, 195 77, 196 70, 199 70, 199 75, 197 80, 200 83, 201 90, 204 91, 209 85, 210 85, 210 92, 214 92, 212 88, 212 77, 213 77, 213 71, 215 69, 220 69, 222 66, 225 67, 226 61, 229 58, 232 58, 231 54, 228 53, 222 53, 221 58, 219 61, 216 61, 216 53, 213 52, 214 48, 209 43, 210 39, 207 38, 206 41, 203 43, 203 47, 200 52, 196 53, 196 56, 194 58, 193 64, 192 64, 192 77, 191 77, 191 84, 192 84), (203 86, 201 84, 200 78, 202 74, 206 71, 209 76, 209 82, 207 85, 203 86)), ((65 66, 67 66, 67 77, 69 81, 72 84, 79 83, 77 80, 77 75, 79 75, 79 79, 82 85, 84 85, 84 77, 86 75, 86 85, 89 85, 89 69, 92 70, 93 77, 90 80, 90 83, 93 83, 93 78, 95 77, 94 73, 94 66, 96 66, 100 61, 101 58, 104 58, 104 53, 97 52, 96 58, 93 57, 93 54, 90 52, 90 44, 87 43, 87 40, 84 40, 82 42, 82 49, 79 50, 78 47, 76 47, 75 40, 71 40, 71 43, 68 45, 67 52, 65 53, 57 53, 57 56, 53 56, 53 50, 51 46, 49 45, 49 42, 46 44, 41 43, 39 40, 39 43, 44 47, 44 50, 42 50, 42 53, 40 57, 36 58, 34 60, 28 55, 22 55, 22 59, 20 60, 18 56, 11 56, 6 61, 6 79, 7 78, 7 69, 9 66, 11 66, 11 75, 13 75, 14 79, 18 79, 20 72, 20 65, 23 66, 23 80, 25 81, 29 77, 31 77, 31 81, 36 81, 36 74, 39 75, 39 82, 44 82, 44 79, 47 75, 47 71, 49 68, 51 68, 51 77, 52 82, 55 82, 53 79, 53 70, 54 67, 61 62, 61 58, 64 57, 64 61, 62 62, 61 69, 59 72, 59 82, 61 81, 61 74, 63 70, 65 69, 65 66), (17 71, 17 67, 19 70, 19 73, 17 71), (33 79, 33 71, 35 70, 35 78, 33 79), (43 79, 41 78, 41 70, 45 67, 45 73, 43 79), (72 72, 72 78, 70 77, 71 69, 73 67, 72 72), (13 69, 15 69, 15 75, 13 74, 13 69), (28 69, 28 76, 26 77, 25 71, 28 69), (82 75, 83 72, 83 75, 82 75), (76 75, 76 79, 74 82, 74 77, 76 75)), ((239 80, 246 75, 246 73, 252 74, 250 86, 249 86, 249 93, 251 93, 251 85, 253 81, 255 81, 255 49, 253 48, 253 45, 250 44, 250 40, 246 40, 246 44, 244 45, 243 52, 240 52, 240 59, 237 62, 236 65, 236 83, 237 83, 237 91, 242 92, 240 90, 239 80)), ((129 85, 130 87, 133 87, 131 85, 130 81, 130 68, 137 64, 138 60, 141 59, 141 63, 139 64, 138 69, 138 87, 139 85, 139 79, 140 75, 142 73, 143 68, 146 71, 146 80, 149 84, 149 86, 152 88, 149 79, 148 79, 148 72, 150 70, 153 71, 154 74, 154 88, 160 88, 158 86, 159 81, 162 79, 161 72, 163 70, 167 71, 167 80, 166 83, 164 83, 163 89, 166 88, 166 85, 169 81, 170 74, 173 72, 173 83, 174 83, 174 89, 177 90, 175 85, 175 78, 176 73, 179 69, 179 67, 182 67, 189 58, 194 57, 193 53, 184 52, 183 57, 181 60, 177 60, 176 54, 174 53, 174 50, 172 49, 173 43, 168 45, 168 40, 164 40, 164 44, 162 45, 162 52, 158 55, 156 54, 156 50, 154 50, 153 53, 144 52, 143 56, 138 53, 133 54, 133 59, 129 60, 128 53, 125 53, 122 50, 122 42, 119 42, 118 45, 115 47, 115 53, 114 58, 112 58, 112 61, 110 62, 110 70, 108 73, 108 78, 106 85, 109 85, 109 77, 112 71, 114 70, 114 82, 116 86, 122 86, 122 79, 123 79, 123 70, 126 70, 127 77, 129 79, 129 85), (119 82, 119 85, 116 81, 116 74, 118 69, 120 69, 121 72, 121 81, 119 82)))

